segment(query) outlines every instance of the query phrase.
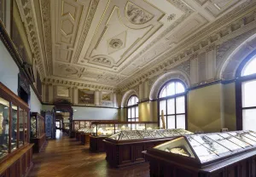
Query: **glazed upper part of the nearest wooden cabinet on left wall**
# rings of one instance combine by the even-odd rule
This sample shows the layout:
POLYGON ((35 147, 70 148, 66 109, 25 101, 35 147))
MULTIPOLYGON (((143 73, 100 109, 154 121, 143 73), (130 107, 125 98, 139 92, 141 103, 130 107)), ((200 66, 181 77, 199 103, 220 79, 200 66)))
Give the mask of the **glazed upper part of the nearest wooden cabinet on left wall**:
POLYGON ((28 105, 0 83, 0 161, 27 144, 28 105))

